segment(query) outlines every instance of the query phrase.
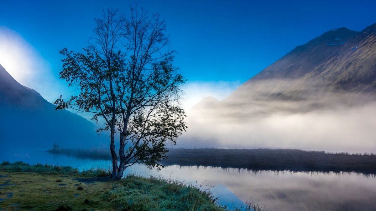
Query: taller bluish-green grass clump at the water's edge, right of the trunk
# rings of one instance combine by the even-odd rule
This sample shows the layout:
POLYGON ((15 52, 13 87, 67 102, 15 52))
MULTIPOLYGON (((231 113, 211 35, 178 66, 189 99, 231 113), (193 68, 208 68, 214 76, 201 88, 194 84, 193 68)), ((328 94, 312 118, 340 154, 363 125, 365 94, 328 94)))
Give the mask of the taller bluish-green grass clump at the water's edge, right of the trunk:
POLYGON ((224 210, 211 193, 197 186, 135 174, 114 184, 104 197, 120 210, 224 210))

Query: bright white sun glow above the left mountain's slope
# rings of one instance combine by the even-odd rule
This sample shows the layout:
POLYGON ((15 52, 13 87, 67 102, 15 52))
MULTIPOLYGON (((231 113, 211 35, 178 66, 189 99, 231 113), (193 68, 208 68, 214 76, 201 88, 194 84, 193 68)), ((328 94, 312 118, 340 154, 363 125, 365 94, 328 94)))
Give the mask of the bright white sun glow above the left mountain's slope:
POLYGON ((18 83, 35 89, 49 102, 66 91, 61 89, 49 63, 38 51, 17 32, 4 26, 0 26, 0 65, 18 83))

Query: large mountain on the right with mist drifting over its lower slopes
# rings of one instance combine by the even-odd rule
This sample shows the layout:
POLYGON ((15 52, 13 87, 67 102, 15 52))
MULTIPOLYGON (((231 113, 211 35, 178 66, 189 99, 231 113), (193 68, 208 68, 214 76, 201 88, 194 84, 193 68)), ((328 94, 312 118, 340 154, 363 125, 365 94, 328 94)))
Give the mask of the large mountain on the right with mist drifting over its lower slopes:
MULTIPOLYGON (((217 104, 233 115, 307 112, 376 99, 376 24, 333 29, 297 46, 217 104)), ((217 113, 217 112, 215 112, 217 113)))

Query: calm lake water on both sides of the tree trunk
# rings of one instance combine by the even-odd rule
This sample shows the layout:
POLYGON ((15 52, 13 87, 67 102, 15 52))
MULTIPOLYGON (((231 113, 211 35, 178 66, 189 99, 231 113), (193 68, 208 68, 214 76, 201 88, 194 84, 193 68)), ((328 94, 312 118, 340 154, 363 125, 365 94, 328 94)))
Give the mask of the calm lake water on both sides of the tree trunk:
MULTIPOLYGON (((81 160, 35 151, 6 152, 0 160, 69 165, 78 169, 109 168, 110 161, 81 160)), ((127 173, 163 176, 210 190, 218 203, 240 205, 249 200, 274 211, 284 210, 376 210, 376 178, 356 173, 253 172, 246 169, 167 166, 161 171, 135 165, 127 173)))

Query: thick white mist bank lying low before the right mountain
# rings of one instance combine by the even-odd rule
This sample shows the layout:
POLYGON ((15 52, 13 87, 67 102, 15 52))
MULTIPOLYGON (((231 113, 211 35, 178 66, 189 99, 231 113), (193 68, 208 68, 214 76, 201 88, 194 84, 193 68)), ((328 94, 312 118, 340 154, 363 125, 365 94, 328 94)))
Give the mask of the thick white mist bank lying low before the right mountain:
POLYGON ((236 103, 230 96, 193 107, 176 147, 376 152, 376 101, 368 94, 323 92, 300 100, 241 96, 236 103))

